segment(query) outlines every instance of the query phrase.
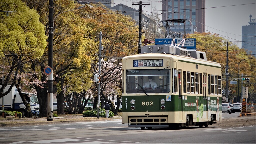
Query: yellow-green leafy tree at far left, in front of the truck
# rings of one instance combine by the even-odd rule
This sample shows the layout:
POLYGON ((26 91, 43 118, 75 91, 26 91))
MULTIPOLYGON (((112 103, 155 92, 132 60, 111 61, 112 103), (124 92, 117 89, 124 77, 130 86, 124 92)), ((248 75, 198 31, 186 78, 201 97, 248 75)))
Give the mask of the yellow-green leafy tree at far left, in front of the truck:
MULTIPOLYGON (((1 76, 6 76, 3 87, 0 89, 0 98, 2 98, 14 85, 21 94, 18 81, 22 81, 22 77, 18 75, 29 73, 31 60, 41 58, 46 48, 47 37, 37 12, 24 6, 21 0, 13 1, 12 4, 8 0, 3 0, 0 3, 0 9, 13 11, 8 17, 5 13, 0 13, 0 57, 3 59, 0 63, 4 67, 1 76), (17 79, 19 80, 16 81, 17 79), (7 85, 11 85, 10 89, 3 92, 7 85)), ((30 106, 22 94, 21 96, 27 107, 27 116, 30 117, 30 106)))

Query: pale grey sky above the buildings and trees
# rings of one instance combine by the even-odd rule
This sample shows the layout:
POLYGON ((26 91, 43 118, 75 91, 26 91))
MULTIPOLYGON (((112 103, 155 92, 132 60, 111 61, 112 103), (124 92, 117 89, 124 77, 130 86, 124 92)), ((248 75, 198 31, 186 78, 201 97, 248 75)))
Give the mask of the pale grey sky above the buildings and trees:
MULTIPOLYGON (((138 4, 140 1, 142 0, 114 0, 114 3, 139 9, 138 5, 132 5, 132 3, 138 4)), ((143 11, 153 11, 156 7, 161 14, 161 2, 143 0, 142 4, 151 4, 143 6, 143 11)), ((252 19, 256 19, 256 0, 206 0, 206 8, 206 32, 224 36, 230 42, 242 41, 242 26, 249 25, 249 15, 252 15, 252 19)), ((239 42, 237 45, 241 47, 242 43, 239 42)))

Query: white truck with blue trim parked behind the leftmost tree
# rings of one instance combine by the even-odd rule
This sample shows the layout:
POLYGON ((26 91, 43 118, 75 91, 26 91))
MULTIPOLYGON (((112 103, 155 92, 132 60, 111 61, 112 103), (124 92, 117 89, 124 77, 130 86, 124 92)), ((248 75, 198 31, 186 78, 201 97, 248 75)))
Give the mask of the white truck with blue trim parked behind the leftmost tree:
MULTIPOLYGON (((1 88, 2 86, 0 86, 1 88)), ((10 88, 10 86, 6 86, 4 91, 7 91, 10 88)), ((31 93, 23 93, 25 94, 25 99, 28 103, 30 103, 31 112, 35 115, 39 115, 39 101, 36 94, 31 93)), ((6 96, 2 97, 0 99, 0 109, 2 110, 3 106, 3 98, 4 98, 4 110, 10 110, 10 111, 20 111, 21 113, 26 112, 26 106, 24 105, 19 92, 15 86, 13 86, 12 91, 7 94, 6 96)))

